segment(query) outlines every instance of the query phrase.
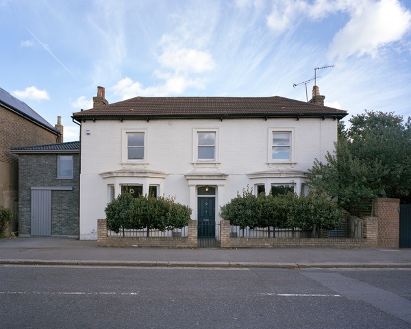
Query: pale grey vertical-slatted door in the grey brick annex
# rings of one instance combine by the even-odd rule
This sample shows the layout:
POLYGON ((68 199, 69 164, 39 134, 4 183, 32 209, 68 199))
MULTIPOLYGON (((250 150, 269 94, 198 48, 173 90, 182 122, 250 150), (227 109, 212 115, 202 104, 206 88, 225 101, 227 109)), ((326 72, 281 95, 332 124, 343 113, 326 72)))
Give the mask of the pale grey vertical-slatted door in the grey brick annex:
POLYGON ((32 190, 31 234, 51 235, 51 190, 32 190))

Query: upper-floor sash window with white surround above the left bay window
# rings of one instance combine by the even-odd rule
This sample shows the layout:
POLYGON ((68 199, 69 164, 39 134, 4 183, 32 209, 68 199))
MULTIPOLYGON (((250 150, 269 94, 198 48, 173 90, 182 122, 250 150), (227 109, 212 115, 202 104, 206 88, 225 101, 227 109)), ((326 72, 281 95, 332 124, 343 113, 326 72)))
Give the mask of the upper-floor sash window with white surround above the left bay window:
POLYGON ((147 162, 147 131, 123 130, 123 162, 147 162))

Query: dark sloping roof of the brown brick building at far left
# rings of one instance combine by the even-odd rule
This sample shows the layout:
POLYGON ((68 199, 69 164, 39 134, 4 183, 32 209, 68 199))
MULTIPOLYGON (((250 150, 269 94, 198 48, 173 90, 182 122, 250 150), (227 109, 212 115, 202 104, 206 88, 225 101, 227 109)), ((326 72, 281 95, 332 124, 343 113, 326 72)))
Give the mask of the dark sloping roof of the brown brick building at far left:
POLYGON ((36 123, 42 125, 43 127, 46 127, 49 130, 52 130, 55 132, 55 134, 61 134, 60 130, 56 129, 48 123, 45 119, 43 119, 36 111, 34 111, 32 108, 30 108, 24 101, 21 101, 20 99, 16 99, 16 97, 13 97, 5 91, 3 88, 0 88, 0 105, 5 106, 6 108, 11 108, 15 112, 17 112, 20 115, 23 115, 23 117, 27 117, 36 123))

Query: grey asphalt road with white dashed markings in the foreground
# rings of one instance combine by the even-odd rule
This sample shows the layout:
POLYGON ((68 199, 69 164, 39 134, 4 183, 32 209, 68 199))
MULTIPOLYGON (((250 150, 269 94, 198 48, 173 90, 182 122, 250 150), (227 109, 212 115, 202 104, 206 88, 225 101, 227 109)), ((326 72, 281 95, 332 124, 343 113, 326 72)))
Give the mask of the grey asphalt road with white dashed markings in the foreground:
POLYGON ((411 328, 410 269, 0 266, 1 328, 411 328))

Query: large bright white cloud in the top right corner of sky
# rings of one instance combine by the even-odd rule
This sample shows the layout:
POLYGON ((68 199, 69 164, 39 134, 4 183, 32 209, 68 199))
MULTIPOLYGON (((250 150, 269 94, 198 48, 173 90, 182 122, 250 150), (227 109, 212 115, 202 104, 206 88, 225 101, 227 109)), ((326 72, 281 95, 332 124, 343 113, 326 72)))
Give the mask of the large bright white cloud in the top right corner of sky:
POLYGON ((329 47, 330 59, 365 53, 375 56, 379 48, 396 42, 411 27, 411 12, 397 0, 382 0, 357 10, 329 47))

